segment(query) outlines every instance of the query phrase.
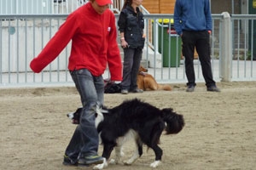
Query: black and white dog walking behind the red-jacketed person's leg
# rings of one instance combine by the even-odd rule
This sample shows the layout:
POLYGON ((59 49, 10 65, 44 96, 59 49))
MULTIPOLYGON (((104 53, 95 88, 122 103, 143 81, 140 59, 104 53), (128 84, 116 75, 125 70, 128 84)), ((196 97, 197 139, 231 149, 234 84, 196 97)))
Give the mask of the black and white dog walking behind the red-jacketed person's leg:
MULTIPOLYGON (((73 123, 79 123, 82 108, 67 114, 73 123)), ((129 139, 134 139, 137 145, 133 156, 125 165, 131 165, 143 155, 143 144, 154 150, 155 161, 150 167, 158 167, 163 151, 159 147, 160 135, 166 130, 166 134, 179 133, 184 126, 182 115, 173 112, 171 108, 158 109, 153 105, 139 99, 126 100, 112 109, 96 109, 96 128, 103 144, 102 164, 94 169, 108 167, 108 159, 115 149, 116 159, 113 163, 119 163, 123 155, 122 145, 129 139)))

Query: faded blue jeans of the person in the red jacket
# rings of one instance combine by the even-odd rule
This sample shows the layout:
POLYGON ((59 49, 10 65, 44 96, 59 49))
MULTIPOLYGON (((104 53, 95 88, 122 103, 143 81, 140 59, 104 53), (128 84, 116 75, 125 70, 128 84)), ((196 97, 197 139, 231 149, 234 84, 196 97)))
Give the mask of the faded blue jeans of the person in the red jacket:
POLYGON ((70 143, 65 151, 73 161, 79 157, 97 155, 99 138, 95 127, 97 102, 104 102, 104 81, 102 76, 94 77, 87 69, 71 71, 71 77, 79 91, 83 112, 70 143))

